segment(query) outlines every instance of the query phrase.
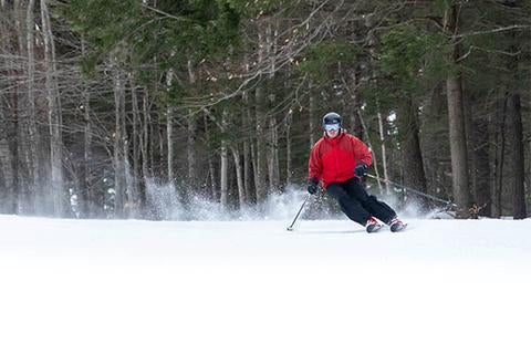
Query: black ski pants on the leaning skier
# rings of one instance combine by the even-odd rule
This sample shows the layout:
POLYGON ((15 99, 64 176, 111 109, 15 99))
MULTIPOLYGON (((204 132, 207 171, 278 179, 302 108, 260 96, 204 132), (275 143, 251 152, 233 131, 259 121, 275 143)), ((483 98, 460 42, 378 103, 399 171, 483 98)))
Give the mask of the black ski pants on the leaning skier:
POLYGON ((371 217, 376 217, 385 223, 389 223, 396 217, 395 210, 375 196, 369 196, 356 177, 330 184, 326 192, 340 202, 341 210, 351 220, 362 226, 365 226, 371 217))

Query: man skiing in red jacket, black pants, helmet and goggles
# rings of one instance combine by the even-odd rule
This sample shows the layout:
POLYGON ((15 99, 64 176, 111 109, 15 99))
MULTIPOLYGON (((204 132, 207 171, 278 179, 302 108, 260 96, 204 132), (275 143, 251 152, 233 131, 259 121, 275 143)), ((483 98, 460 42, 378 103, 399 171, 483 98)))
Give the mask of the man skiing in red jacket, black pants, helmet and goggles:
POLYGON ((313 195, 322 181, 326 192, 339 201, 341 210, 367 232, 378 231, 383 225, 393 232, 405 225, 388 205, 369 196, 361 183, 373 162, 368 147, 341 127, 342 118, 331 112, 323 117, 324 134, 312 148, 309 160, 308 191, 313 195))

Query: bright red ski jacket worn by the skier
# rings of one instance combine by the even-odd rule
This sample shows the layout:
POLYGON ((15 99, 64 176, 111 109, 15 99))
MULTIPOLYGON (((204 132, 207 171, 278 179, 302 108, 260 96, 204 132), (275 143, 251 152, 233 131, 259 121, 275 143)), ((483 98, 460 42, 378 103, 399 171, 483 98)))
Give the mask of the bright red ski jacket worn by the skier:
POLYGON ((358 163, 371 166, 372 162, 371 150, 357 137, 341 132, 332 139, 324 134, 310 153, 308 177, 322 180, 323 188, 326 188, 331 183, 353 178, 358 163))

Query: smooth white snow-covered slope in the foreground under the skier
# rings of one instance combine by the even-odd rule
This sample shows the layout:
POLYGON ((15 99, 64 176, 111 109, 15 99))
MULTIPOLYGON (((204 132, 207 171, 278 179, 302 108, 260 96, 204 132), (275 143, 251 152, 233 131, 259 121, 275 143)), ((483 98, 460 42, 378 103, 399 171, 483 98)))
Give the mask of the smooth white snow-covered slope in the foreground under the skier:
POLYGON ((0 217, 0 353, 531 353, 531 220, 0 217))

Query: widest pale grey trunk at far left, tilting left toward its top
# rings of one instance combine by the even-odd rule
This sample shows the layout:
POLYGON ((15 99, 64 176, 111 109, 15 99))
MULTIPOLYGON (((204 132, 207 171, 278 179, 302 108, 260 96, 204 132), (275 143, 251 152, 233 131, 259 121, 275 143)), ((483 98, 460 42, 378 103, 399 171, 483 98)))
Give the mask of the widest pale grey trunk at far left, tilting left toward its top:
POLYGON ((63 181, 63 138, 61 98, 56 79, 55 44, 45 0, 41 0, 41 20, 44 38, 44 62, 46 66, 48 122, 50 125, 50 162, 52 180, 53 215, 65 212, 65 190, 63 181))

